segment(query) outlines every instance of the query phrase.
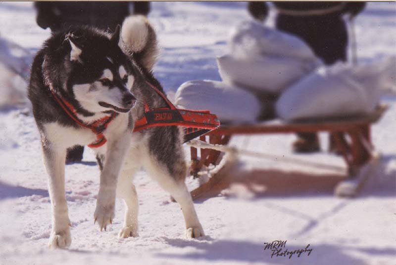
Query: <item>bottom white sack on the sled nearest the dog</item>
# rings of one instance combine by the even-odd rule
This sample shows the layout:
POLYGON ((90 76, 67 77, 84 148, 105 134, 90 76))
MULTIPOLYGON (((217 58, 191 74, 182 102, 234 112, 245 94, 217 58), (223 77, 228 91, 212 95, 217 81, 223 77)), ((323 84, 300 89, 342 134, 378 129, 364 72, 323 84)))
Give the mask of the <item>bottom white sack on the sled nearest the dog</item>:
POLYGON ((251 123, 260 114, 261 104, 249 92, 223 82, 192 80, 176 91, 175 105, 182 109, 209 110, 220 122, 251 123))

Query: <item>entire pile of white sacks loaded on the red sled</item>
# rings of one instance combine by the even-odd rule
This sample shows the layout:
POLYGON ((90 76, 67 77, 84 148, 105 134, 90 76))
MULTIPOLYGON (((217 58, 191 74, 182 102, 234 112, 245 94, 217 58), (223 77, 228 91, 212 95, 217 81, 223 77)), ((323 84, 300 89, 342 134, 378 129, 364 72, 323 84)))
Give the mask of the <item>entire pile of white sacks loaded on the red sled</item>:
POLYGON ((254 21, 241 23, 230 54, 217 58, 218 81, 188 81, 175 104, 207 109, 221 122, 255 122, 265 110, 256 94, 280 95, 276 113, 285 120, 371 113, 381 92, 395 88, 396 58, 351 67, 324 66, 301 39, 254 21))

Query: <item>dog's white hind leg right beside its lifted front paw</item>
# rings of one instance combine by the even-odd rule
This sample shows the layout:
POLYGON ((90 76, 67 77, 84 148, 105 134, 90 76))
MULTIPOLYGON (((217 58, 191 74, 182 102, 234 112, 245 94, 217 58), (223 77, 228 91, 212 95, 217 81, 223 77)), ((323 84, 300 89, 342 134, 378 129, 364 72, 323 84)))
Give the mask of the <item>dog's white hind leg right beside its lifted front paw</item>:
POLYGON ((139 201, 135 185, 132 184, 133 176, 139 168, 123 169, 118 178, 117 196, 125 203, 124 227, 118 233, 119 237, 139 236, 138 210, 139 201))

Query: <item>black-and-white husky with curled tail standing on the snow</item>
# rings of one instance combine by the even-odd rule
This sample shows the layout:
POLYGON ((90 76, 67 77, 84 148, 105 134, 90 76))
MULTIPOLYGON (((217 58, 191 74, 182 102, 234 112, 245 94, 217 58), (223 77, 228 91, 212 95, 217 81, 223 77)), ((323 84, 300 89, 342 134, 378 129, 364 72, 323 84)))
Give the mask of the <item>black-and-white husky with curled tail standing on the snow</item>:
POLYGON ((36 55, 29 99, 49 175, 51 247, 71 243, 64 164, 66 150, 75 145, 96 146, 100 186, 94 218, 100 230, 114 218, 117 195, 126 205, 119 236, 138 236, 132 180, 143 166, 181 205, 187 237, 204 235, 184 182, 182 130, 167 126, 132 133, 145 104, 150 109, 167 106, 149 85, 163 91, 151 73, 157 54, 155 32, 147 19, 133 16, 124 21, 121 34, 119 27, 113 34, 89 27, 56 33, 36 55))

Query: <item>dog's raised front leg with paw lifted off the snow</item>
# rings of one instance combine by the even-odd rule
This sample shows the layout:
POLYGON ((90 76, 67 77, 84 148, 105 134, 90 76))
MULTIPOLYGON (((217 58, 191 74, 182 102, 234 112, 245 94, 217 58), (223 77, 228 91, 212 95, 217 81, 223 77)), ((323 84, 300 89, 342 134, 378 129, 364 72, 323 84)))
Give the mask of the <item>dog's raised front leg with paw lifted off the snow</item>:
POLYGON ((114 218, 115 195, 117 179, 123 164, 126 151, 130 147, 132 134, 125 132, 119 137, 113 137, 107 142, 107 151, 103 170, 100 173, 100 186, 95 210, 95 222, 100 231, 112 223, 114 218))

